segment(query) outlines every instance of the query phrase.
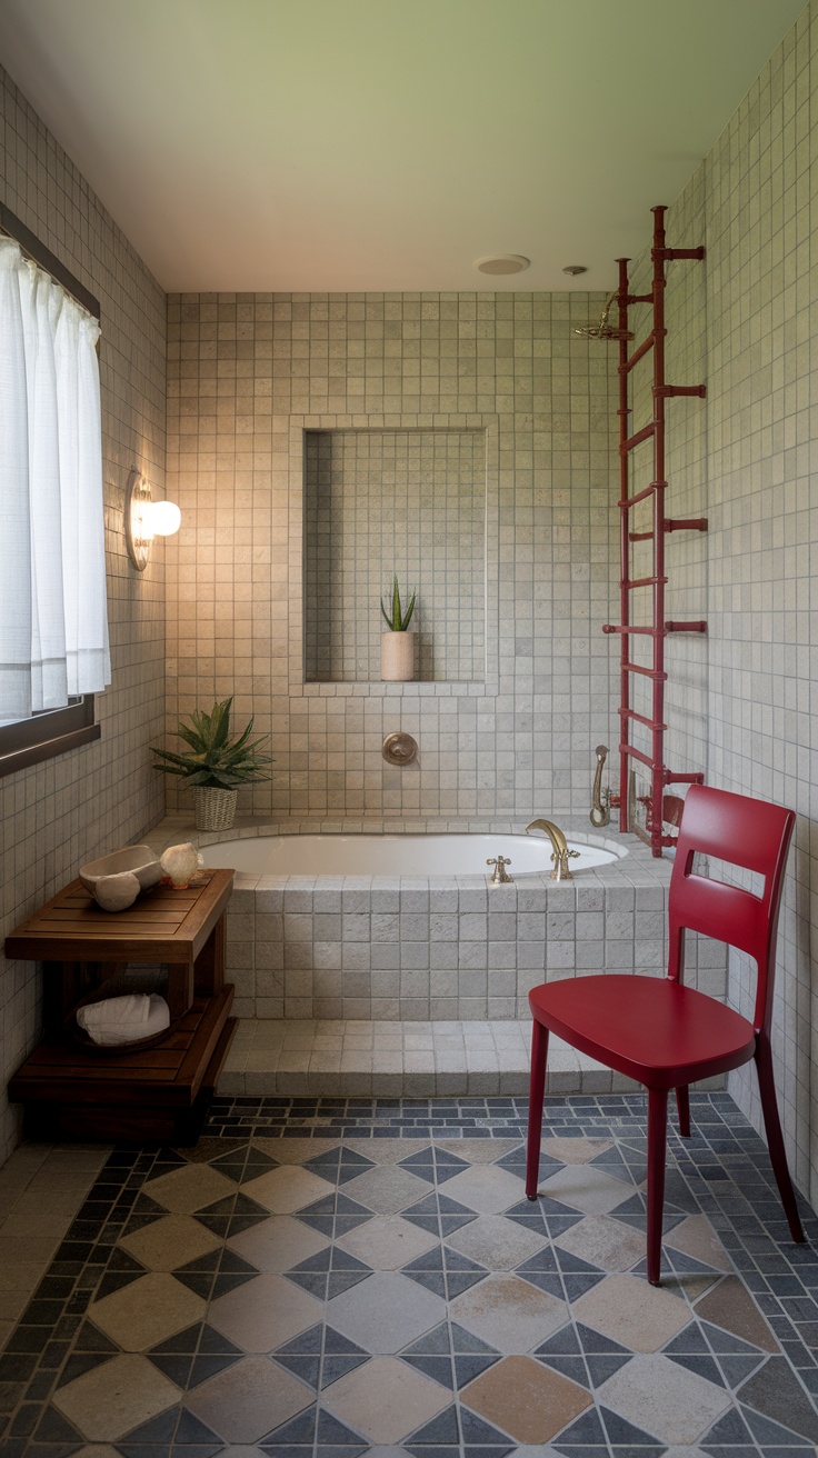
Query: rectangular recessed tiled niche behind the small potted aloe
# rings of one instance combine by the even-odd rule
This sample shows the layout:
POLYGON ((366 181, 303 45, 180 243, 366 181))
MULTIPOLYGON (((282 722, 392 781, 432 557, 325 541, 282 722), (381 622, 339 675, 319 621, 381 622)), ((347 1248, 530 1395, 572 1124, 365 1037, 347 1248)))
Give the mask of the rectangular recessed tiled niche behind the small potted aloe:
POLYGON ((305 679, 381 678, 381 598, 417 589, 417 678, 486 677, 486 432, 305 430, 305 679))

